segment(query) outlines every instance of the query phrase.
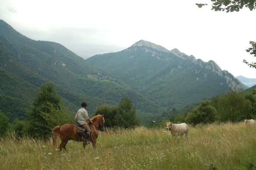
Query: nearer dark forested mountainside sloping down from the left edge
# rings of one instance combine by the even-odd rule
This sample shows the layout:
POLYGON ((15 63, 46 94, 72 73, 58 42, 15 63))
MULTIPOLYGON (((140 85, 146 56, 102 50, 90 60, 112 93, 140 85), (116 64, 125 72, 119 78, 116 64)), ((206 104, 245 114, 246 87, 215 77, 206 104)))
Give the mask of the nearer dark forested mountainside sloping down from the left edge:
POLYGON ((64 103, 74 112, 82 101, 87 102, 92 114, 98 105, 116 105, 125 95, 132 98, 139 114, 163 110, 61 44, 25 37, 3 20, 0 50, 0 110, 11 120, 25 118, 37 88, 45 82, 55 84, 64 103))

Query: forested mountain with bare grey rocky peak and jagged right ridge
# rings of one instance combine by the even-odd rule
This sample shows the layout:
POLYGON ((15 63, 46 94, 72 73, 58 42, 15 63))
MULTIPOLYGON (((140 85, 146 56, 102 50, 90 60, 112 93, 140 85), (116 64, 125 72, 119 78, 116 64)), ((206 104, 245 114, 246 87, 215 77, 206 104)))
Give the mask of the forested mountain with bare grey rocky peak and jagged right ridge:
POLYGON ((168 109, 184 107, 230 89, 245 89, 212 60, 196 60, 178 49, 169 51, 144 40, 120 52, 95 55, 86 61, 168 109))

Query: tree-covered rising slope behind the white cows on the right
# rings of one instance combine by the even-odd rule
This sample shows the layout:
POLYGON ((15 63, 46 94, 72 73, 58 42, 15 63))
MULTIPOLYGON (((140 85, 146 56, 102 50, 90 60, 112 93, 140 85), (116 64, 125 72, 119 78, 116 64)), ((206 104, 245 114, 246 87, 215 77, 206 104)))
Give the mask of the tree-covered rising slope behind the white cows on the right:
POLYGON ((212 99, 204 99, 191 111, 171 116, 150 126, 162 126, 164 122, 185 122, 187 124, 207 124, 212 122, 240 122, 256 119, 256 86, 251 91, 230 90, 212 99))

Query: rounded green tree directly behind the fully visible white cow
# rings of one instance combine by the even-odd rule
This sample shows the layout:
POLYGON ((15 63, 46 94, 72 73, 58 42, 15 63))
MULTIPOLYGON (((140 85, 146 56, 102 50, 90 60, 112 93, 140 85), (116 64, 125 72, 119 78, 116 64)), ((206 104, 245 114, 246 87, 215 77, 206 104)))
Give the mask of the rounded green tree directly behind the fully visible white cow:
POLYGON ((217 120, 217 111, 208 99, 202 101, 200 105, 191 110, 186 117, 186 121, 193 124, 199 124, 201 122, 210 123, 215 120, 217 120))

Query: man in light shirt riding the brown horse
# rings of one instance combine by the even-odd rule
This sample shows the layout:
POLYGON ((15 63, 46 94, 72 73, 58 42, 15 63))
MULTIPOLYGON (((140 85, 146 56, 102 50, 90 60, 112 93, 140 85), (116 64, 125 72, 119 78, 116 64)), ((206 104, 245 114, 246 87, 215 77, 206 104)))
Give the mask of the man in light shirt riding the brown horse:
POLYGON ((88 141, 88 138, 89 136, 91 135, 91 129, 89 128, 87 122, 90 122, 91 124, 93 123, 90 118, 88 117, 88 112, 87 110, 85 110, 87 104, 86 102, 83 102, 81 104, 82 108, 79 109, 76 113, 76 116, 75 116, 75 120, 76 120, 76 123, 78 125, 81 125, 83 126, 84 129, 86 129, 86 139, 87 139, 87 144, 89 144, 89 141, 88 141))

